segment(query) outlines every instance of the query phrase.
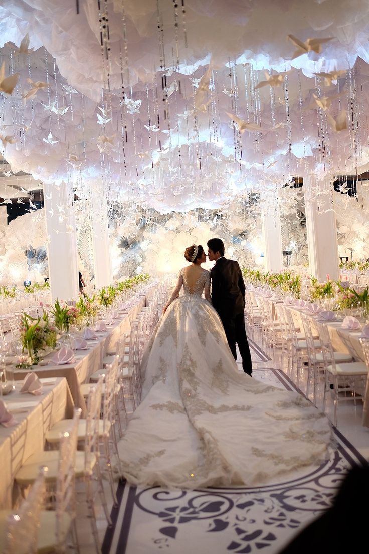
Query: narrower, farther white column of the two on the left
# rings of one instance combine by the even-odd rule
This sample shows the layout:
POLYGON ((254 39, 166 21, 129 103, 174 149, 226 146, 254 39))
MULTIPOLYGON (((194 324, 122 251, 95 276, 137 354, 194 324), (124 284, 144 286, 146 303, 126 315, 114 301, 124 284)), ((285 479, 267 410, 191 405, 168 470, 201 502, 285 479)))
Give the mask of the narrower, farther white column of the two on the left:
POLYGON ((101 189, 92 191, 91 227, 95 285, 96 289, 101 289, 113 283, 107 203, 101 189))

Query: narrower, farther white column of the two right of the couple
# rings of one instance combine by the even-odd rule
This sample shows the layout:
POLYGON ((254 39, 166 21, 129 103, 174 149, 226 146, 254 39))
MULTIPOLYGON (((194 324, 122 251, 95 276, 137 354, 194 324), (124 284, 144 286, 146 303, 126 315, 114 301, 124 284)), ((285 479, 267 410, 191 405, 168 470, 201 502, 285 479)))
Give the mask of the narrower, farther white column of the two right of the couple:
POLYGON ((266 271, 283 271, 282 234, 278 190, 273 187, 262 195, 261 223, 264 240, 264 267, 266 271))

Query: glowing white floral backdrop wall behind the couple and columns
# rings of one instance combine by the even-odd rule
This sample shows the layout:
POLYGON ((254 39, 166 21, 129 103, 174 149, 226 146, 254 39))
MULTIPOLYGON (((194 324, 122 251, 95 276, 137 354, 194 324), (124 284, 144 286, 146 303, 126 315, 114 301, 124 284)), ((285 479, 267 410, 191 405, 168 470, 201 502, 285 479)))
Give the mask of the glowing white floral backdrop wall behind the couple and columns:
MULTIPOLYGON (((364 191, 365 192, 365 191, 364 191)), ((334 193, 339 255, 349 256, 347 247, 355 248, 354 261, 369 258, 369 202, 365 194, 350 197, 334 193)), ((263 238, 258 194, 235 199, 227 209, 198 208, 187 213, 160 214, 141 209, 110 221, 113 275, 116 279, 143 273, 177 273, 184 264, 186 247, 196 243, 206 250, 209 238, 221 238, 226 256, 243 267, 262 268, 263 238)), ((304 195, 301 188, 284 187, 279 191, 282 246, 292 250, 289 265, 308 264, 304 195)), ((91 224, 76 204, 77 249, 79 269, 85 280, 93 281, 91 224)), ((0 284, 22 285, 25 279, 43 282, 48 276, 48 236, 44 210, 18 217, 0 227, 0 284)), ((210 267, 210 264, 206 266, 210 267)))

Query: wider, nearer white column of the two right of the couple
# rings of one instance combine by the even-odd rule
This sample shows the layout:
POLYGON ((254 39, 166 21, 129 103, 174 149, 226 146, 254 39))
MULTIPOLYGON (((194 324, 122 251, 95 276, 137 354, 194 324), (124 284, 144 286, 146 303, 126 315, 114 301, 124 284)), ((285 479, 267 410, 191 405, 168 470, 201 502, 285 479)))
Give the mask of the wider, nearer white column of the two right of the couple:
POLYGON ((320 281, 339 279, 337 224, 331 176, 319 181, 304 177, 306 235, 310 274, 320 281))

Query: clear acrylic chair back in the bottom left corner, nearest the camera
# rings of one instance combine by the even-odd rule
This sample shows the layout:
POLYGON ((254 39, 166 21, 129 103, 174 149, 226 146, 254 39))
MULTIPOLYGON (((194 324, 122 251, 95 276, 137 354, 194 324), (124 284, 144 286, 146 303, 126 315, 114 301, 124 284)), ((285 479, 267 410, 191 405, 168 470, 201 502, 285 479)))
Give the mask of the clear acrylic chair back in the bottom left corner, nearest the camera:
POLYGON ((3 554, 34 554, 45 503, 45 468, 40 468, 27 498, 7 517, 3 554))

